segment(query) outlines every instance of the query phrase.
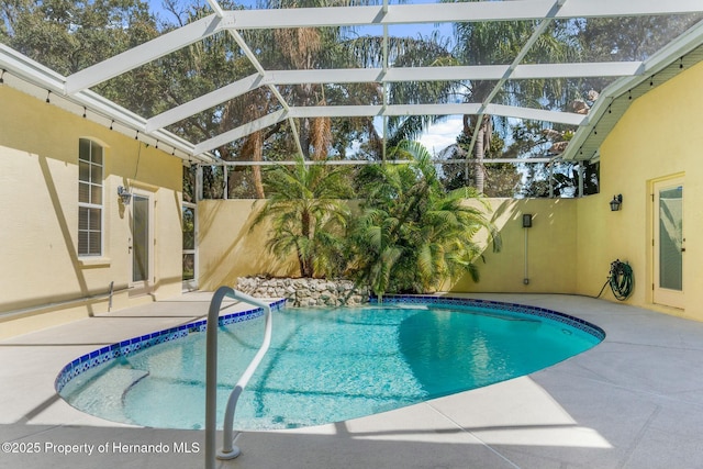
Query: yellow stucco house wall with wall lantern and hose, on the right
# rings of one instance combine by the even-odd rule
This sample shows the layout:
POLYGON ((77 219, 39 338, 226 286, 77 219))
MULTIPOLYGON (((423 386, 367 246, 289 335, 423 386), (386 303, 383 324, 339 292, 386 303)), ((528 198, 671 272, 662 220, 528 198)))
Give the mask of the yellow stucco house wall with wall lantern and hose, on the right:
MULTIPOLYGON (((578 289, 591 291, 616 259, 631 263, 629 303, 652 305, 652 183, 683 176, 684 308, 661 311, 703 321, 703 64, 634 101, 601 146, 601 193, 579 201, 578 289), (610 212, 609 200, 623 194, 610 212)), ((612 297, 611 297, 612 298, 612 297)))

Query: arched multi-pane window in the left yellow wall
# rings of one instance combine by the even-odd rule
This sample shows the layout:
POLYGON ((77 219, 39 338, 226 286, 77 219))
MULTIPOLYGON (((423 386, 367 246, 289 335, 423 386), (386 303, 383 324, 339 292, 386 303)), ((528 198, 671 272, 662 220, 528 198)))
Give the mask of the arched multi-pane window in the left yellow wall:
POLYGON ((102 255, 102 147, 87 138, 78 145, 78 255, 102 255))

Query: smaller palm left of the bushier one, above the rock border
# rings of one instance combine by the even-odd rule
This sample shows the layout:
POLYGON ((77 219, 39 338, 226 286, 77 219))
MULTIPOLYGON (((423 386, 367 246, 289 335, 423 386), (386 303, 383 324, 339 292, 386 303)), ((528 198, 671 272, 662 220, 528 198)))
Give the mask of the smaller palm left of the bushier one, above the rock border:
POLYGON ((342 273, 350 194, 345 168, 306 165, 277 166, 266 178, 268 199, 252 228, 271 222, 268 248, 286 258, 295 253, 302 277, 335 277, 342 273))

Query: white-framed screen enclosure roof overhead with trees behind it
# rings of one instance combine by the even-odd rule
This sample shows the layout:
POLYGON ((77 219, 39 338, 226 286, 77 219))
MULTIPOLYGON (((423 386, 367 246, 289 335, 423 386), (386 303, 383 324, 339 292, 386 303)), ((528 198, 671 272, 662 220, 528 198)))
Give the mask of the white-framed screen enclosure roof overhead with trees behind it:
POLYGON ((702 12, 700 0, 23 0, 0 9, 0 65, 3 82, 182 158, 190 202, 264 198, 266 167, 301 155, 399 163, 404 139, 448 189, 578 197, 599 191, 599 145, 633 99, 701 60, 702 12))

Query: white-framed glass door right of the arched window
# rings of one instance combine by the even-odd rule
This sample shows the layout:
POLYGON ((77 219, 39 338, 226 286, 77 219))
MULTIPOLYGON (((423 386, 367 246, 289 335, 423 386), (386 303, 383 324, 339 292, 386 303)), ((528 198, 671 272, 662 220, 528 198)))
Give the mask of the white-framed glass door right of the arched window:
POLYGON ((154 277, 154 238, 152 227, 152 199, 135 192, 132 197, 132 278, 133 293, 147 293, 154 277))

